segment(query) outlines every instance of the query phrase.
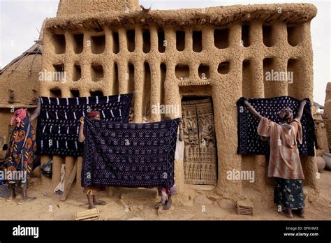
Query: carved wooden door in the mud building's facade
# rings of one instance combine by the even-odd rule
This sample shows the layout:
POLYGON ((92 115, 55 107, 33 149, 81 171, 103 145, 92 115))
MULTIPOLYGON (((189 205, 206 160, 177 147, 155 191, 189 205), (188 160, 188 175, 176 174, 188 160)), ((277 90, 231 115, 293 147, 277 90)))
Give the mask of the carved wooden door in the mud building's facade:
POLYGON ((182 102, 185 184, 216 184, 214 114, 210 98, 182 102))

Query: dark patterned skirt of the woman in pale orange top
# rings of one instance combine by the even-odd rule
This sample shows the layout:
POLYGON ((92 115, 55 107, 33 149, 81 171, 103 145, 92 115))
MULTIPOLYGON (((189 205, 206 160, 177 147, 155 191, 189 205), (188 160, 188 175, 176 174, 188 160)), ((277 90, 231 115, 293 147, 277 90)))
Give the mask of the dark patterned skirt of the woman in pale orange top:
POLYGON ((274 203, 282 207, 300 209, 304 207, 304 193, 301 179, 275 177, 274 203))

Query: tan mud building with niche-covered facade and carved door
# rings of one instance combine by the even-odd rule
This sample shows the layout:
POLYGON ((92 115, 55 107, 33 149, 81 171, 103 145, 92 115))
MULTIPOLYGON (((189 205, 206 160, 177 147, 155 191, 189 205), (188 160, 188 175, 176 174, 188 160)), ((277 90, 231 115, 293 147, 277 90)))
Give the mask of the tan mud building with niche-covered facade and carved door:
MULTIPOLYGON (((133 122, 160 121, 151 106, 179 105, 184 161, 175 162, 179 201, 193 193, 258 202, 272 193, 265 156, 237 152, 236 101, 313 96, 307 3, 148 10, 138 1, 61 0, 43 29, 42 70, 66 72, 66 82, 41 82, 41 96, 78 97, 134 92, 133 122), (267 71, 293 72, 293 82, 269 82, 267 71), (253 170, 255 182, 226 179, 229 170, 253 170)), ((54 156, 50 189, 61 164, 68 179, 82 158, 54 156)), ((42 163, 50 160, 43 156, 42 163)), ((302 158, 304 190, 318 195, 314 157, 302 158)), ((272 198, 270 196, 270 198, 272 198)), ((272 199, 267 203, 271 205, 272 199)))

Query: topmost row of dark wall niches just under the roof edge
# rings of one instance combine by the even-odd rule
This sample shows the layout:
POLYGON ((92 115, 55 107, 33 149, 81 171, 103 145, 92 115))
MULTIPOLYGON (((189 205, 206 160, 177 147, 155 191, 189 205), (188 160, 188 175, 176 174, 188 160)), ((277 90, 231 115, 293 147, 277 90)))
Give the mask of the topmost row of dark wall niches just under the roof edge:
MULTIPOLYGON (((288 44, 292 46, 299 45, 302 41, 302 23, 291 23, 287 24, 287 39, 288 44)), ((229 47, 229 27, 214 29, 214 46, 219 49, 225 49, 229 47)), ((244 47, 249 47, 251 45, 251 39, 249 38, 249 33, 251 31, 251 25, 243 24, 242 25, 242 36, 241 42, 238 45, 244 47)), ((270 24, 262 25, 263 32, 263 44, 266 47, 272 47, 274 45, 274 39, 277 38, 277 35, 274 34, 274 28, 270 24)), ((126 30, 126 47, 128 52, 135 51, 135 29, 126 30)), ((185 39, 186 35, 192 35, 192 47, 193 52, 201 52, 203 50, 203 31, 192 31, 187 32, 183 30, 176 31, 176 49, 177 51, 185 50, 185 39)), ((160 28, 157 31, 157 50, 163 53, 168 43, 165 40, 164 29, 160 28)), ((151 34, 149 29, 142 30, 142 52, 148 53, 151 50, 151 34)), ((54 47, 55 54, 63 54, 66 52, 66 37, 64 34, 52 34, 52 45, 54 47)), ((89 43, 84 45, 84 34, 73 34, 73 51, 75 54, 82 53, 84 46, 89 46, 91 48, 91 53, 93 54, 102 54, 105 52, 105 35, 91 36, 89 43)), ((112 52, 117 54, 119 53, 119 33, 112 31, 112 52)))

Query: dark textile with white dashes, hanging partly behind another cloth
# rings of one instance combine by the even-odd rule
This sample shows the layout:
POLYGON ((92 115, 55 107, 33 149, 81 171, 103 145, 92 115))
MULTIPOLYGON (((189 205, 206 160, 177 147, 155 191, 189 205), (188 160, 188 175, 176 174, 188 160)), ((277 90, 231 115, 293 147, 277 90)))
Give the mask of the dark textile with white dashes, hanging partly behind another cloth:
POLYGON ((106 121, 128 121, 132 94, 80 98, 41 97, 37 126, 37 154, 82 156, 78 142, 80 117, 99 110, 106 121))

